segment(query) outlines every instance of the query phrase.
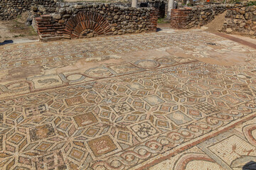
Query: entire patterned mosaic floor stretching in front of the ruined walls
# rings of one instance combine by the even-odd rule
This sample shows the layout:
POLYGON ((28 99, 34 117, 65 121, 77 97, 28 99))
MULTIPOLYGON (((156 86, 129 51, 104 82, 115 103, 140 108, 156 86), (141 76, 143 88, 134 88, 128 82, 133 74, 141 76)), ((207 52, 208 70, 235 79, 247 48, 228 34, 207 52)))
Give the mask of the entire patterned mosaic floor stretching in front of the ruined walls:
POLYGON ((201 30, 0 46, 0 167, 255 166, 255 57, 201 30))

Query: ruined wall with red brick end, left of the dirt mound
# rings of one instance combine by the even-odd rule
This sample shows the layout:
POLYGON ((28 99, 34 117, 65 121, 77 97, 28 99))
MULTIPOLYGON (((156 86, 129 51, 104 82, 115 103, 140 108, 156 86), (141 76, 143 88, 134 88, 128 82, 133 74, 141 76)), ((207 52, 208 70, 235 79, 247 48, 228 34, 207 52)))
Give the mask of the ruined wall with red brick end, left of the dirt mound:
POLYGON ((235 4, 218 4, 211 6, 195 6, 191 8, 178 8, 171 11, 171 28, 196 28, 213 21, 215 16, 229 8, 235 8, 235 4))

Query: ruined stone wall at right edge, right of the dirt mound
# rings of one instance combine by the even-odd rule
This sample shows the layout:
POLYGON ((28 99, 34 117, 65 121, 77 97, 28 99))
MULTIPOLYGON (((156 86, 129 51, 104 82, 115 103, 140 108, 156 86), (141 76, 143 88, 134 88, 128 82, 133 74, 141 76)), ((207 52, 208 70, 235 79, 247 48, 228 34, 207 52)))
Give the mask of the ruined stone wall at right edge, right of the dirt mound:
POLYGON ((223 24, 225 33, 256 35, 256 6, 244 6, 228 10, 223 24))

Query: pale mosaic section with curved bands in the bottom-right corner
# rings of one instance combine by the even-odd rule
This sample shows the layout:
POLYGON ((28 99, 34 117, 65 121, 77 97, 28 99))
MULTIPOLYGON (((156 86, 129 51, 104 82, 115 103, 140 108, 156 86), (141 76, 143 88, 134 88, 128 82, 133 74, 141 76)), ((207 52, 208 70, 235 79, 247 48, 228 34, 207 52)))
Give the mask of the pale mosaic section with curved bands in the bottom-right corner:
POLYGON ((255 169, 255 128, 255 118, 247 120, 150 169, 255 169))

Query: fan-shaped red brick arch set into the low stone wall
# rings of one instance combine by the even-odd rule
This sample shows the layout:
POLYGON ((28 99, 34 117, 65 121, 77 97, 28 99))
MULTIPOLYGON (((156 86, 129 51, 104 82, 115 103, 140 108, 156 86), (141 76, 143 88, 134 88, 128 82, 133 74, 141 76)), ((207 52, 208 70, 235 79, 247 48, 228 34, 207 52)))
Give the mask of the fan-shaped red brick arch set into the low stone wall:
POLYGON ((102 35, 111 31, 111 26, 100 14, 81 11, 68 20, 65 30, 70 38, 102 35))

